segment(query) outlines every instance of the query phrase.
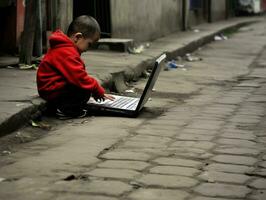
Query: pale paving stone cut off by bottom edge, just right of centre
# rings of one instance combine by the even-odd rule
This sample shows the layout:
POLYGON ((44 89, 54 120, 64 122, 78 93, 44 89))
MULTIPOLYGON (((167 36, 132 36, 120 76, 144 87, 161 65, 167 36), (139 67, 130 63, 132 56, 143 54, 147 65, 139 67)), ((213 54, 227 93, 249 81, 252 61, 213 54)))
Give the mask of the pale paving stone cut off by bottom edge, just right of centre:
POLYGON ((129 195, 131 200, 183 200, 189 196, 180 190, 140 189, 129 195))

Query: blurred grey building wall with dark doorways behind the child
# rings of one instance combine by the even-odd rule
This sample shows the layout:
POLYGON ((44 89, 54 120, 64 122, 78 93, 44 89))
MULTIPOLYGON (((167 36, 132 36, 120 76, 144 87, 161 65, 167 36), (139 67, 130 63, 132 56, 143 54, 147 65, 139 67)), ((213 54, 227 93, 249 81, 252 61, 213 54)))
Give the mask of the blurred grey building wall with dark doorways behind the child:
MULTIPOLYGON (((95 17, 102 37, 151 41, 201 23, 235 16, 237 0, 39 0, 44 52, 57 28, 65 31, 73 18, 95 17)), ((260 7, 266 9, 265 0, 260 7)), ((0 1, 0 52, 17 53, 27 0, 0 1)))

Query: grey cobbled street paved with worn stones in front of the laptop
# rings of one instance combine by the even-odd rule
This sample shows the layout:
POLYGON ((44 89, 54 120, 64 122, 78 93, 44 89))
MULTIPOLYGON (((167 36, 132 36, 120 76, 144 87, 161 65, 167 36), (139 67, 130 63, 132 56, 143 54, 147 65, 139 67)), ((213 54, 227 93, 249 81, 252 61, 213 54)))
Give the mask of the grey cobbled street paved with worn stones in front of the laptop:
POLYGON ((1 157, 0 198, 265 200, 265 30, 162 72, 144 116, 75 120, 1 157))

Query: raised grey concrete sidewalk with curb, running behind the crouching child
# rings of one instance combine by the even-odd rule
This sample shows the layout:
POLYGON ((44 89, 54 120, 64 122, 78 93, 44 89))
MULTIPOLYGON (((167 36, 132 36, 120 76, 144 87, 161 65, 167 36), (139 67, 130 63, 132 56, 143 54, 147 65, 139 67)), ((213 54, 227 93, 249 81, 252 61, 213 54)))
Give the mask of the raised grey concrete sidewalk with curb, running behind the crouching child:
MULTIPOLYGON (((213 24, 201 24, 200 32, 179 32, 153 41, 142 54, 91 51, 83 54, 87 69, 101 84, 117 92, 125 88, 124 80, 137 80, 147 67, 163 52, 168 59, 193 51, 213 40, 214 35, 245 23, 263 20, 263 17, 235 18, 213 24)), ((8 65, 8 58, 0 57, 0 66, 8 65)), ((15 61, 11 58, 10 63, 15 61)), ((38 96, 35 71, 0 68, 0 136, 25 124, 45 102, 38 96)))

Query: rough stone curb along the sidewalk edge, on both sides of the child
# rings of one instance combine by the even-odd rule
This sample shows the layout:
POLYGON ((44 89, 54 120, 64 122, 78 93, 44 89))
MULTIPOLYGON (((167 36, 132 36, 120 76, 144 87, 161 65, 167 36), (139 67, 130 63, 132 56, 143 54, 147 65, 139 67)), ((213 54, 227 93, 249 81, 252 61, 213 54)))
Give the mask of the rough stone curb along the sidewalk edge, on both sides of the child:
MULTIPOLYGON (((246 21, 243 20, 242 22, 235 22, 234 24, 227 25, 219 30, 205 35, 202 38, 191 41, 183 47, 177 48, 173 51, 162 51, 161 53, 166 53, 168 60, 176 58, 177 56, 183 56, 188 52, 195 51, 200 46, 212 42, 214 36, 219 33, 228 31, 233 28, 239 28, 251 23, 255 23, 257 21, 258 20, 247 19, 246 21)), ((152 66, 152 63, 155 61, 156 58, 157 56, 154 56, 153 58, 147 58, 146 60, 141 61, 134 67, 125 68, 121 72, 110 74, 108 77, 105 78, 105 80, 101 80, 100 82, 103 87, 111 91, 121 92, 121 90, 126 87, 125 81, 137 80, 149 66, 152 66)), ((32 105, 22 109, 20 112, 6 119, 3 123, 0 124, 0 137, 17 130, 18 128, 29 122, 29 120, 40 116, 45 107, 45 101, 41 100, 40 98, 32 99, 32 105)))

